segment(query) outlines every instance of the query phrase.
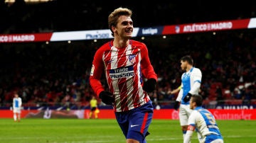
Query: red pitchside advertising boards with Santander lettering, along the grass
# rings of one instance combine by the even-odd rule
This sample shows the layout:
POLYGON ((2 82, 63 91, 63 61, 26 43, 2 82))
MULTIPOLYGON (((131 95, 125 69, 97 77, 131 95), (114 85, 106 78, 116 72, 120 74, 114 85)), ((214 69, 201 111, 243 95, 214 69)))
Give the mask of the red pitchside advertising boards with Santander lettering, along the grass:
MULTIPOLYGON (((256 120, 256 109, 208 109, 216 120, 256 120)), ((21 118, 89 118, 90 110, 22 110, 21 118)), ((0 118, 13 118, 12 110, 0 110, 0 118)), ((100 109, 100 119, 114 119, 111 109, 100 109)), ((154 110, 154 119, 178 120, 178 111, 174 109, 154 110)))

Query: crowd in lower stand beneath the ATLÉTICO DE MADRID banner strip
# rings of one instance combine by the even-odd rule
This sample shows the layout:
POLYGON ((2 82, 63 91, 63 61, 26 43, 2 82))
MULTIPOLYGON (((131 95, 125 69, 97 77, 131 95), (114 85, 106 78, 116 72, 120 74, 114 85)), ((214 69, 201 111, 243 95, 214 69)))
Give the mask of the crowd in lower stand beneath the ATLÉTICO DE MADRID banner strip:
MULTIPOLYGON (((173 37, 174 40, 148 38, 144 41, 159 75, 158 88, 151 93, 153 101, 163 104, 174 101, 176 94, 168 94, 168 91, 181 84, 179 58, 188 54, 193 56, 196 67, 203 72, 201 94, 206 101, 240 99, 250 103, 256 99, 254 35, 248 32, 242 35, 240 31, 173 37)), ((4 75, 0 79, 2 105, 11 103, 14 91, 18 91, 24 103, 89 103, 94 94, 88 84, 90 63, 99 42, 18 45, 1 45, 0 74, 4 75)))

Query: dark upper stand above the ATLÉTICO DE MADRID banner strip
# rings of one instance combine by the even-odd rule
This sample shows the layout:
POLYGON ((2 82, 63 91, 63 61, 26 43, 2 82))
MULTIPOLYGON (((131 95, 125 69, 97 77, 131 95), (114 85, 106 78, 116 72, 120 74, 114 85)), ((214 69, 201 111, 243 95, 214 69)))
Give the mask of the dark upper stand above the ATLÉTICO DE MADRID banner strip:
POLYGON ((7 4, 0 0, 0 33, 42 33, 72 30, 107 29, 108 14, 119 6, 134 11, 134 27, 226 21, 256 16, 256 2, 232 1, 137 1, 52 0, 25 3, 16 0, 7 4), (109 6, 110 5, 110 6, 109 6), (231 6, 232 5, 232 6, 231 6))

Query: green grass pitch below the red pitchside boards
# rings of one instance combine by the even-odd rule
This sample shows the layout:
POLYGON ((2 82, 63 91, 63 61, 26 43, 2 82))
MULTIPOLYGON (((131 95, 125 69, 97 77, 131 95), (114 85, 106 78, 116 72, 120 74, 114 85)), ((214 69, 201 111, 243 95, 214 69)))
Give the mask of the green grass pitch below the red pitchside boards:
MULTIPOLYGON (((255 120, 217 120, 225 143, 256 142, 255 120)), ((152 120, 148 143, 182 142, 178 120, 152 120)), ((116 120, 0 119, 3 143, 124 143, 116 120)), ((192 142, 198 142, 196 133, 192 142)))

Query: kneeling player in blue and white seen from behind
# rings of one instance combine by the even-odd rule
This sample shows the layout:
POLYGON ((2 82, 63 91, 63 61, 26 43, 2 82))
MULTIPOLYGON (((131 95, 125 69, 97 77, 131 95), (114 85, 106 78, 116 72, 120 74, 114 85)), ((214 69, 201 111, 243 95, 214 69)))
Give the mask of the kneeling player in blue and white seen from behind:
POLYGON ((193 110, 188 118, 188 130, 183 143, 191 142, 193 132, 197 129, 201 135, 201 143, 223 143, 217 122, 210 111, 202 107, 203 98, 200 95, 191 96, 190 108, 193 110))

